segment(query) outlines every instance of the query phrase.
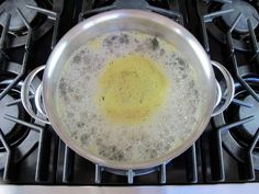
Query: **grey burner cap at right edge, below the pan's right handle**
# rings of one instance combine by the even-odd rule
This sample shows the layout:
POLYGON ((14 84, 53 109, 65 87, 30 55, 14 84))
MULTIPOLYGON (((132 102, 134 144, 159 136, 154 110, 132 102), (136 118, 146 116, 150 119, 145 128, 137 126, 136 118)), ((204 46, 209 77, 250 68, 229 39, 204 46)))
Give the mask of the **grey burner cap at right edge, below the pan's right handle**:
POLYGON ((239 118, 246 118, 249 116, 255 116, 251 122, 245 123, 243 128, 238 129, 240 135, 246 139, 251 139, 259 127, 259 103, 251 96, 247 95, 244 102, 250 104, 251 107, 240 106, 239 107, 239 118))

